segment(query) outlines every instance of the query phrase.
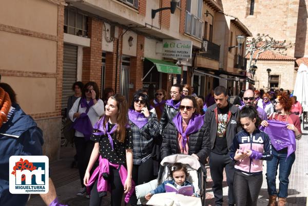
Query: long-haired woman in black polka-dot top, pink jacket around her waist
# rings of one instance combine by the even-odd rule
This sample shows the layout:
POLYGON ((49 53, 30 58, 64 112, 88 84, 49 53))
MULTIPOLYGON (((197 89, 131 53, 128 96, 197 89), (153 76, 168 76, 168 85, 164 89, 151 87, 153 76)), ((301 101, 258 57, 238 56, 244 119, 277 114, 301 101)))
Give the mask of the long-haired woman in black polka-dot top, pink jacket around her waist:
POLYGON ((102 197, 111 193, 111 206, 127 204, 134 191, 131 180, 132 135, 127 124, 127 103, 122 95, 111 96, 105 115, 94 125, 91 140, 95 142, 85 173, 84 184, 90 193, 90 206, 100 206, 102 197), (90 177, 94 163, 97 166, 90 177))

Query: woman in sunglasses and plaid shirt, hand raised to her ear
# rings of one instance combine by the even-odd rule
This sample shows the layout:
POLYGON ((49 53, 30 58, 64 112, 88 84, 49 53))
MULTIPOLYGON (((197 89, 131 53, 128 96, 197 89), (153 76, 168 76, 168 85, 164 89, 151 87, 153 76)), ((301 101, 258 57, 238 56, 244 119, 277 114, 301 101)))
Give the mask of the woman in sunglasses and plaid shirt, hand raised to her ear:
MULTIPOLYGON (((128 110, 128 123, 133 143, 132 179, 136 185, 155 179, 151 154, 154 139, 159 135, 159 124, 156 114, 149 110, 148 96, 143 93, 134 95, 128 110)), ((133 193, 130 204, 137 205, 136 193, 133 193)))

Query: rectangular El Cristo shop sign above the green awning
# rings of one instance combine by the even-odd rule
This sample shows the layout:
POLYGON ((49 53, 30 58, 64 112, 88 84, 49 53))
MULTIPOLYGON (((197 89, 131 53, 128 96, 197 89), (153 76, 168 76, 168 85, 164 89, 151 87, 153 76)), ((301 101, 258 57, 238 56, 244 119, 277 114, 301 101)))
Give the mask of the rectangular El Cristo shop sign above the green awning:
POLYGON ((163 40, 164 58, 191 59, 191 51, 191 41, 163 40))

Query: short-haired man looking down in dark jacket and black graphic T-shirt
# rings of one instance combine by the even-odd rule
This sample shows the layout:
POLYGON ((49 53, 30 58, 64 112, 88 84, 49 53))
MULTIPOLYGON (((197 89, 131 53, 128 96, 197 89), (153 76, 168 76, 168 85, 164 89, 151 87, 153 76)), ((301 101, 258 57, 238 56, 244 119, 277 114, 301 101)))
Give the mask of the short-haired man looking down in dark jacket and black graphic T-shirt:
POLYGON ((204 117, 206 138, 210 139, 209 168, 213 179, 213 192, 216 205, 222 205, 223 170, 226 172, 228 188, 228 205, 234 205, 233 175, 235 162, 230 159, 229 149, 234 136, 241 130, 237 127, 240 109, 230 104, 227 90, 218 86, 214 90, 216 104, 207 108, 204 117))

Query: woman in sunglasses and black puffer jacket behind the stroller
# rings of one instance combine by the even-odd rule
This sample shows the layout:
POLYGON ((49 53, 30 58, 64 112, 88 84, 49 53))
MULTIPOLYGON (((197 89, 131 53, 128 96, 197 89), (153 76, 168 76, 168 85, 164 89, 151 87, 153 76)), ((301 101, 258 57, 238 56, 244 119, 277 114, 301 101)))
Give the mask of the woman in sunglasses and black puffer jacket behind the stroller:
POLYGON ((187 154, 204 163, 209 154, 210 142, 205 135, 204 118, 197 114, 196 98, 184 97, 179 108, 180 112, 165 128, 162 159, 173 154, 187 154))

